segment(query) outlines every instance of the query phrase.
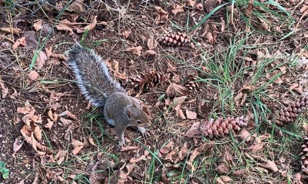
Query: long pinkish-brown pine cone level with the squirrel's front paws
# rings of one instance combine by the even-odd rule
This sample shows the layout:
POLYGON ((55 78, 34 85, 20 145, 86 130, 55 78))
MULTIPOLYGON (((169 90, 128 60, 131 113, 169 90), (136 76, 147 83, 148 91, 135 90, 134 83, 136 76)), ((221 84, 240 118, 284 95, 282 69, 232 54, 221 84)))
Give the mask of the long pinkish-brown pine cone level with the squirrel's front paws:
POLYGON ((241 130, 241 127, 247 126, 248 118, 241 117, 219 117, 217 120, 201 120, 199 131, 202 136, 220 137, 229 134, 229 129, 232 133, 241 130))

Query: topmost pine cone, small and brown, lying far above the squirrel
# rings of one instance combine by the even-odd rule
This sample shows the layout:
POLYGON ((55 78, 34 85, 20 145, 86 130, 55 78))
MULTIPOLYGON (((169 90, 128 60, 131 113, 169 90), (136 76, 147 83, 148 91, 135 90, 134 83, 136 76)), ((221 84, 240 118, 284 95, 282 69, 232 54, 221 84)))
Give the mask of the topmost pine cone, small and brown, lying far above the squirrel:
POLYGON ((187 43, 191 43, 191 39, 186 33, 176 32, 167 34, 159 39, 159 42, 168 46, 181 46, 187 43))

